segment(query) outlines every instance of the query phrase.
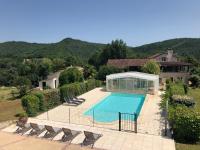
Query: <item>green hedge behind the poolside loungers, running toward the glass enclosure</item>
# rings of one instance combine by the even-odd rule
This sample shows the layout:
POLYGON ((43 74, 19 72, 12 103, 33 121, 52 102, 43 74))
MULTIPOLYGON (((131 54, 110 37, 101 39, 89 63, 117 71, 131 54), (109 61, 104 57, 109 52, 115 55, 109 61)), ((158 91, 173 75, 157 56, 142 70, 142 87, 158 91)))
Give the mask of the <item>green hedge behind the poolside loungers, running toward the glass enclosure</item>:
POLYGON ((85 82, 76 82, 76 83, 63 85, 62 87, 60 87, 61 101, 65 102, 64 101, 65 97, 77 96, 99 86, 101 86, 101 81, 95 80, 95 79, 90 79, 85 82))

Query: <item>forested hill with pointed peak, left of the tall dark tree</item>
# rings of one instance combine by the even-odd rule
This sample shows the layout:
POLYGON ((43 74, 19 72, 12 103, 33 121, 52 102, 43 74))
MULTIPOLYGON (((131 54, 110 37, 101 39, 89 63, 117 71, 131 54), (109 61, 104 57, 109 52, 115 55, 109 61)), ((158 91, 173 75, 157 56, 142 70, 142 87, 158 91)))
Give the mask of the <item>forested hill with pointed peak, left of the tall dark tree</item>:
POLYGON ((89 43, 81 40, 66 38, 57 43, 38 44, 27 42, 0 43, 0 57, 66 57, 76 55, 87 59, 94 52, 102 49, 103 44, 89 43))

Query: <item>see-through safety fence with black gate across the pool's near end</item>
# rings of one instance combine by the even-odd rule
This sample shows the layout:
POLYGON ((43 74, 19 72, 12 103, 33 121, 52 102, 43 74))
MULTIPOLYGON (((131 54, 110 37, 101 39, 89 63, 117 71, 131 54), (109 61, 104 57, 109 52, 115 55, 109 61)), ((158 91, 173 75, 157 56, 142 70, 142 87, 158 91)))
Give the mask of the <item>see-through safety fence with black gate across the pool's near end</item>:
POLYGON ((119 131, 137 132, 137 114, 111 112, 88 108, 56 107, 36 118, 69 124, 86 125, 119 131))

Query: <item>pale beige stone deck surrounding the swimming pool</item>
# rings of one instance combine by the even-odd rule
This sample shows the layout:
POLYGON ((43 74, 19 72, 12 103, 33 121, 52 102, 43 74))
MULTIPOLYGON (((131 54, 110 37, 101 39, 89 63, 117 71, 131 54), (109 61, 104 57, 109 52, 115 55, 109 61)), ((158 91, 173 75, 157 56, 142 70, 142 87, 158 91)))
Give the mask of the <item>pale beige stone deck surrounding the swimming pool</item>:
MULTIPOLYGON (((162 112, 159 109, 161 98, 159 96, 147 95, 147 99, 143 104, 143 108, 138 118, 138 133, 134 132, 121 132, 115 130, 98 127, 96 124, 93 127, 91 120, 83 116, 83 112, 91 106, 99 102, 101 99, 109 95, 109 92, 103 91, 101 88, 96 88, 89 91, 80 97, 86 98, 86 102, 74 108, 74 106, 61 105, 47 113, 39 115, 37 118, 29 118, 29 122, 36 122, 38 124, 48 124, 56 127, 66 127, 79 131, 91 131, 94 133, 102 134, 103 136, 95 143, 94 147, 99 149, 109 150, 175 150, 174 140, 163 136, 163 118, 162 112), (72 118, 70 120, 66 115, 70 112, 72 118), (78 117, 77 117, 78 116, 78 117), (85 119, 87 118, 87 119, 85 119)), ((3 131, 14 132, 15 125, 5 128, 3 131)), ((42 136, 42 135, 41 135, 42 136)), ((62 133, 54 138, 54 141, 60 139, 62 133)), ((81 133, 73 141, 73 144, 82 143, 84 134, 81 133)), ((26 148, 27 149, 27 148, 26 148)))

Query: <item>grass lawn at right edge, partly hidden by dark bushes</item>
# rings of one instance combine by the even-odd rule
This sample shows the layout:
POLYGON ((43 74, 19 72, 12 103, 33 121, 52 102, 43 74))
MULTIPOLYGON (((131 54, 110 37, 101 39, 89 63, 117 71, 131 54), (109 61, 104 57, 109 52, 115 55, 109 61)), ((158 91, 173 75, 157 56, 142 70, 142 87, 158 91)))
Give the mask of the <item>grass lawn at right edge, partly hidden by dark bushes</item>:
MULTIPOLYGON (((195 99, 195 110, 200 112, 200 88, 190 89, 188 95, 195 99)), ((198 144, 182 144, 176 143, 176 150, 200 150, 200 143, 198 144)))

